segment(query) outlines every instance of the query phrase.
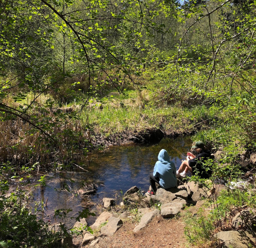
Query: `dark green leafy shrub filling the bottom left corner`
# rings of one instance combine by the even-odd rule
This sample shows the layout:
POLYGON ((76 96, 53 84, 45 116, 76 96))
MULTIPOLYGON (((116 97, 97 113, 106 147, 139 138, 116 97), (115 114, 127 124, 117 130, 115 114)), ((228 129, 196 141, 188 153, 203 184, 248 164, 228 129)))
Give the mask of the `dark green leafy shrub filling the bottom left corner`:
POLYGON ((64 226, 50 231, 48 223, 32 213, 25 193, 17 190, 0 199, 0 247, 57 247, 65 236, 64 226))

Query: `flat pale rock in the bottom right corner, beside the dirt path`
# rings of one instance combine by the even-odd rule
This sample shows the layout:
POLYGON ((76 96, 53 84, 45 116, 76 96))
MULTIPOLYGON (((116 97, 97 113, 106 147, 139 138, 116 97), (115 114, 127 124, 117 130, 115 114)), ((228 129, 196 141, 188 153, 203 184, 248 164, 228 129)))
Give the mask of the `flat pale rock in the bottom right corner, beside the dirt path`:
POLYGON ((225 246, 228 248, 249 248, 255 244, 255 238, 248 231, 218 232, 215 237, 225 242, 225 246))

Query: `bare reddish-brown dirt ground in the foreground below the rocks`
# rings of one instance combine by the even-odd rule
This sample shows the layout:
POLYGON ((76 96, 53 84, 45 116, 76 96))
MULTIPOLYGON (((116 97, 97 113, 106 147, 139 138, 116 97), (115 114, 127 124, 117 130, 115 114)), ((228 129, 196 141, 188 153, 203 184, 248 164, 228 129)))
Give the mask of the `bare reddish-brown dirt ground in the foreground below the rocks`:
MULTIPOLYGON (((122 227, 113 236, 101 236, 95 248, 184 248, 186 238, 185 224, 177 219, 163 219, 156 217, 145 228, 137 233, 133 232, 135 223, 124 222, 122 227)), ((82 237, 73 239, 74 246, 80 247, 82 237)), ((89 245, 83 246, 87 248, 89 245)), ((92 247, 92 246, 91 246, 92 247)))

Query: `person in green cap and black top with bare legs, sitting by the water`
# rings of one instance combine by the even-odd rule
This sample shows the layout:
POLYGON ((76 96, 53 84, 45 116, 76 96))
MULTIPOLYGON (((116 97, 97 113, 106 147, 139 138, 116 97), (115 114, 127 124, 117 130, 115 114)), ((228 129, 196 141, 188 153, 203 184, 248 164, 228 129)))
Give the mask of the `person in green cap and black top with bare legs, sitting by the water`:
POLYGON ((202 162, 205 162, 211 157, 211 152, 205 149, 202 141, 197 141, 192 148, 195 148, 197 155, 188 152, 187 159, 182 162, 180 168, 176 172, 177 178, 184 178, 190 171, 193 173, 195 169, 199 171, 199 176, 209 178, 211 172, 207 172, 202 168, 202 162))

